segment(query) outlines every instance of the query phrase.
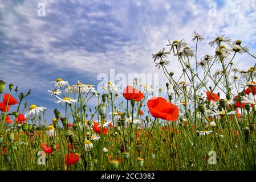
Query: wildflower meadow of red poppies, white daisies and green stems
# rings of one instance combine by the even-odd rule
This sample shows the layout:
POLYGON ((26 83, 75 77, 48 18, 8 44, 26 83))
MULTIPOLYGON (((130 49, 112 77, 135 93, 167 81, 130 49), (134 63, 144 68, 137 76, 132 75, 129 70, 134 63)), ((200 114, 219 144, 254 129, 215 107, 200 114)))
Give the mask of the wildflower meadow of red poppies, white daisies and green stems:
POLYGON ((0 170, 255 170, 256 64, 242 70, 236 58, 256 57, 225 35, 198 57, 205 39, 191 39, 169 40, 148 60, 168 80, 162 88, 136 77, 123 87, 108 80, 103 92, 87 80, 49 80, 51 121, 47 105, 26 101, 33 90, 1 80, 0 170))

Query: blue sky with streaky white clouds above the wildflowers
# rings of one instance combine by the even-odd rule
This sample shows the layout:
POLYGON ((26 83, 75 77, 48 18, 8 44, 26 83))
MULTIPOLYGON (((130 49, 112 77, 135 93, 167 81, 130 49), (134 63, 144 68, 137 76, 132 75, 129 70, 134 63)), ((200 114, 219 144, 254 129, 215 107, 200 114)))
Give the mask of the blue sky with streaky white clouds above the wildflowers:
MULTIPOLYGON (((151 54, 169 40, 182 39, 190 47, 192 32, 206 38, 200 55, 213 53, 208 42, 226 35, 242 39, 255 53, 255 1, 64 1, 0 0, 0 80, 32 89, 30 104, 47 107, 53 117, 55 98, 51 80, 97 84, 99 73, 159 73, 151 54), (37 15, 38 3, 46 16, 37 15), (209 15, 216 7, 216 15, 209 15)), ((238 56, 247 69, 254 60, 238 56)), ((178 64, 170 65, 170 71, 178 64)), ((163 82, 165 84, 165 82, 163 82)))

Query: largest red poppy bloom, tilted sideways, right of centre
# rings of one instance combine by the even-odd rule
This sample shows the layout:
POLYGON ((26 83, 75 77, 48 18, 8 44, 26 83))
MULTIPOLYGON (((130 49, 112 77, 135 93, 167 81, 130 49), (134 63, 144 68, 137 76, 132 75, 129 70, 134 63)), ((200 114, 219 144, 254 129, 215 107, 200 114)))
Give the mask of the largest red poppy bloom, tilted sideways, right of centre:
POLYGON ((154 118, 161 118, 167 121, 176 121, 178 119, 178 107, 167 102, 162 97, 152 97, 147 106, 154 118))

